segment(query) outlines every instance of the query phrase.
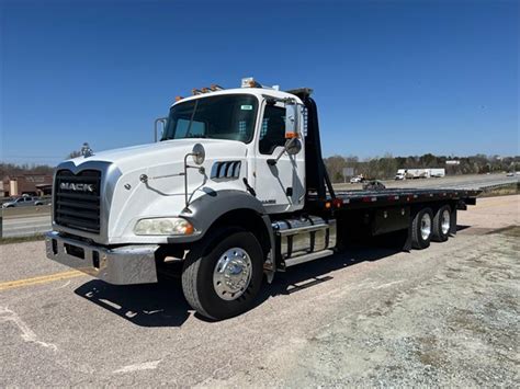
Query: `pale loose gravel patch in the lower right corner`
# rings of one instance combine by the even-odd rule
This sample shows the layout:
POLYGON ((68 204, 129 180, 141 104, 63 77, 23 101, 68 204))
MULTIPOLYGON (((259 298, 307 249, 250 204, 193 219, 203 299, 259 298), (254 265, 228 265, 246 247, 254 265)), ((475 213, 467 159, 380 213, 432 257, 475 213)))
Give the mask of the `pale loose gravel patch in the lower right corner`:
POLYGON ((445 263, 430 259, 440 265, 431 278, 362 316, 344 313, 315 336, 289 376, 304 377, 303 386, 513 387, 520 261, 509 232, 517 229, 467 237, 472 244, 445 253, 445 263))

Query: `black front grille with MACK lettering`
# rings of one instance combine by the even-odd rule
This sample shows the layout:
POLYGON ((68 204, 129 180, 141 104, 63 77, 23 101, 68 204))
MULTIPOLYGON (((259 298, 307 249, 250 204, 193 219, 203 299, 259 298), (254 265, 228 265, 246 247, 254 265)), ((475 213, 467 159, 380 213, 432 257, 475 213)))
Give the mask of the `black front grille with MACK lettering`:
POLYGON ((64 227, 100 232, 101 172, 70 170, 56 173, 54 221, 64 227))

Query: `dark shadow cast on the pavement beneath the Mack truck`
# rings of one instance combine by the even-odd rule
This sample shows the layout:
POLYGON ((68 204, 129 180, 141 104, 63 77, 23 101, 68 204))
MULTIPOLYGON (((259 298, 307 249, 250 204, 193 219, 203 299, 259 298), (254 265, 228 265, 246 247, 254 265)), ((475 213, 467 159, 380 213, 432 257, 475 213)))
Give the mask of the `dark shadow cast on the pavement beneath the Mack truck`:
MULTIPOLYGON (((377 261, 397 253, 393 249, 353 248, 341 254, 291 267, 278 273, 272 284, 263 284, 256 307, 269 298, 291 295, 298 290, 327 282, 334 271, 365 261, 377 261)), ((182 294, 180 278, 168 283, 116 286, 100 279, 90 281, 75 293, 139 327, 180 327, 192 314, 182 294)), ((200 320, 212 321, 195 314, 200 320)))

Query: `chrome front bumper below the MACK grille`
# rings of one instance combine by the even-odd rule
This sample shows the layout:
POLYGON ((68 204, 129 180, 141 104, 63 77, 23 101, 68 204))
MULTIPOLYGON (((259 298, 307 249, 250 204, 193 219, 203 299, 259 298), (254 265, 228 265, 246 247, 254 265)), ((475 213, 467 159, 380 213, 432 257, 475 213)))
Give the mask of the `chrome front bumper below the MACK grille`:
POLYGON ((109 284, 129 285, 157 282, 155 252, 157 244, 124 245, 106 249, 64 238, 59 232, 46 233, 47 258, 77 268, 109 284))

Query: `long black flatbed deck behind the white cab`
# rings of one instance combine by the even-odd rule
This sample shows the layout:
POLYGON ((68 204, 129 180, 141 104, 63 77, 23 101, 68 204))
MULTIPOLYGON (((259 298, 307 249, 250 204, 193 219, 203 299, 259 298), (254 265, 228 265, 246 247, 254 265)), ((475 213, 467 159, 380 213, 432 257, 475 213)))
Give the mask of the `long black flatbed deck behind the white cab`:
POLYGON ((384 190, 355 190, 339 191, 335 196, 327 195, 325 201, 310 195, 307 203, 319 208, 368 208, 388 205, 404 205, 427 202, 453 201, 475 204, 475 198, 481 194, 478 190, 453 188, 384 188, 384 190))

